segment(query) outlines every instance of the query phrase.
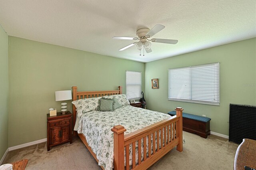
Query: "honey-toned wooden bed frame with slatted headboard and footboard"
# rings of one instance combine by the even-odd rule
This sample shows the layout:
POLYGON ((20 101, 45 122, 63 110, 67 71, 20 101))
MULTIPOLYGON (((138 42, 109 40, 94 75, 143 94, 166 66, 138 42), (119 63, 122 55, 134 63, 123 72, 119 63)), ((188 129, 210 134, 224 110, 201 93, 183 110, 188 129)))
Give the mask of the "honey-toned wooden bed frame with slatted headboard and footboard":
MULTIPOLYGON (((84 98, 92 98, 92 97, 100 97, 100 96, 106 96, 106 95, 118 95, 122 94, 122 87, 119 86, 118 90, 109 90, 109 91, 77 91, 77 87, 73 86, 73 101, 78 99, 84 99, 84 98)), ((114 169, 115 170, 137 170, 137 169, 147 169, 152 164, 154 164, 156 161, 158 161, 160 158, 162 158, 166 153, 168 153, 172 148, 177 146, 177 150, 182 152, 183 150, 183 139, 182 139, 182 111, 183 109, 181 107, 177 107, 176 109, 176 115, 173 117, 170 117, 168 119, 164 119, 163 121, 160 121, 158 123, 154 123, 153 125, 150 125, 148 127, 142 128, 140 130, 137 130, 135 132, 129 133, 124 135, 124 132, 126 129, 122 125, 114 126, 111 130, 114 132, 114 169), (169 129, 171 127, 175 128, 176 135, 172 135, 172 131, 167 130, 167 136, 166 133, 164 133, 164 136, 162 134, 162 131, 166 132, 166 129, 169 129), (141 139, 143 138, 144 144, 146 144, 146 137, 153 139, 155 138, 155 135, 157 135, 157 141, 153 140, 153 154, 151 152, 148 152, 148 156, 146 156, 146 152, 144 152, 144 159, 138 160, 138 164, 135 163, 135 144, 138 141, 139 146, 141 145, 141 139), (160 137, 161 138, 160 138, 160 137), (168 140, 164 141, 163 146, 163 140, 164 138, 168 138, 168 140), (160 138, 160 139, 159 139, 160 138), (157 147, 156 146, 157 142, 157 147), (159 144, 161 143, 161 144, 159 144), (124 166, 124 148, 126 147, 126 162, 129 162, 129 145, 132 144, 132 167, 130 166, 124 166), (161 145, 161 147, 159 146, 161 145)), ((73 105, 73 128, 76 122, 76 107, 73 105)), ((73 135, 77 135, 76 131, 73 131, 73 135)), ((84 134, 78 134, 78 136, 81 138, 85 146, 88 148, 88 150, 91 152, 92 156, 95 158, 95 160, 98 162, 98 159, 96 158, 96 154, 92 151, 90 146, 88 146, 88 143, 86 142, 86 138, 84 134)), ((143 147, 144 150, 147 147, 143 147)), ((148 140, 148 150, 151 150, 151 140, 148 140)), ((138 153, 141 154, 141 148, 138 147, 138 153)), ((101 166, 102 169, 104 167, 101 166)))

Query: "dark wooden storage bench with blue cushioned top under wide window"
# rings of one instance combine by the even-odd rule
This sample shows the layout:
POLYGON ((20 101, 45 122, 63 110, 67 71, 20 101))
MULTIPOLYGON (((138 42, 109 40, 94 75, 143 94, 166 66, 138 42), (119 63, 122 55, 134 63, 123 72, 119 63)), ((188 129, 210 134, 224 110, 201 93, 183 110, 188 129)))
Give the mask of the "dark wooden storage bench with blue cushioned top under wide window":
MULTIPOLYGON (((169 115, 176 115, 176 111, 168 112, 169 115)), ((207 138, 211 134, 210 131, 210 118, 202 117, 198 115, 192 115, 189 113, 183 113, 183 130, 190 133, 198 134, 203 138, 207 138)))

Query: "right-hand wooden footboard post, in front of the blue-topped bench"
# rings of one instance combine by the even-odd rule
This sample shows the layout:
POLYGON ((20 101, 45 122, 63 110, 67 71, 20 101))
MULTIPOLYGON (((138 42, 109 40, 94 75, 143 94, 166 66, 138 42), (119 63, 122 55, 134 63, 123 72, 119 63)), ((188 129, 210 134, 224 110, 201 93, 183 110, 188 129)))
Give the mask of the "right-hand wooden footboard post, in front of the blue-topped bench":
POLYGON ((183 109, 182 109, 182 107, 176 107, 176 115, 177 116, 180 116, 179 117, 179 120, 178 120, 178 132, 176 132, 177 133, 177 135, 178 135, 178 138, 179 138, 179 144, 177 145, 177 150, 178 151, 180 151, 180 152, 182 152, 182 150, 183 150, 183 135, 182 135, 182 111, 183 111, 183 109))

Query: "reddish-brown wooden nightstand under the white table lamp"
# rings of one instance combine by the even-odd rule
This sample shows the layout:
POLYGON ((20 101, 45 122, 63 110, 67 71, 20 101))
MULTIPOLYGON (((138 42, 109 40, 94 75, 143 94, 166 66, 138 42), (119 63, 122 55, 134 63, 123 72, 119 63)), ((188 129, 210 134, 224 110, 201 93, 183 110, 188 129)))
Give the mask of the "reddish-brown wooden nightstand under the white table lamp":
POLYGON ((57 113, 57 116, 47 114, 47 150, 64 142, 72 144, 72 114, 57 113))

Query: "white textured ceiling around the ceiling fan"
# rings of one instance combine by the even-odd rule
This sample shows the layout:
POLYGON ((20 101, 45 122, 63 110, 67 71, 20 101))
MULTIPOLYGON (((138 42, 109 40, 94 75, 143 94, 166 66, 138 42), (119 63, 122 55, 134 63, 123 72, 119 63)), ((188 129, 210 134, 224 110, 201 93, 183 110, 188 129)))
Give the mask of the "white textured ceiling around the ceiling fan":
POLYGON ((154 61, 256 37, 255 0, 0 0, 0 24, 9 36, 135 61, 154 61), (139 28, 166 26, 144 57, 134 40, 139 28))

